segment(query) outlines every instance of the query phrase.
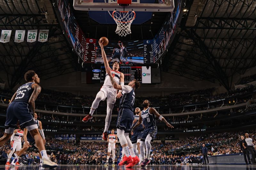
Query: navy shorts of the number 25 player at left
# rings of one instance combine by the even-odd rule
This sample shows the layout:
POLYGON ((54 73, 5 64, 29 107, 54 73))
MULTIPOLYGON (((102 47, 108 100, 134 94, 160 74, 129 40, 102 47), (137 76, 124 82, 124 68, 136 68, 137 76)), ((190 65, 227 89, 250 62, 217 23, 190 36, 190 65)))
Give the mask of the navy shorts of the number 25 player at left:
MULTIPOLYGON (((17 121, 20 121, 20 128, 25 128, 30 125, 36 124, 33 120, 32 110, 28 108, 28 103, 25 102, 12 102, 7 108, 5 129, 15 128, 17 121)), ((13 132, 12 132, 13 133, 13 132)))

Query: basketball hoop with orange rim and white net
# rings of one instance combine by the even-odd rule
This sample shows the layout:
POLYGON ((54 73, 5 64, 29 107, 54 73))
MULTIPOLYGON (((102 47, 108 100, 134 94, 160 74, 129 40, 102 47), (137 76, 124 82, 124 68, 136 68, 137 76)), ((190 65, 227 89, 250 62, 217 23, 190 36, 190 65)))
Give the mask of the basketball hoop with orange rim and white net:
POLYGON ((126 36, 132 33, 131 24, 136 17, 134 11, 113 11, 112 17, 116 21, 116 33, 118 35, 126 36))

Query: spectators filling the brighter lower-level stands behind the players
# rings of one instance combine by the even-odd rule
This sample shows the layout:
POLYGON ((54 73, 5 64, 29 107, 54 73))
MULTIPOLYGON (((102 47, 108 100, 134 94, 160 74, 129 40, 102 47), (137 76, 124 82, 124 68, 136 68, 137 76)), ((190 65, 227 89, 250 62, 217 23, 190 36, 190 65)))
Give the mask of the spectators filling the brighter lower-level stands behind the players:
MULTIPOLYGON (((256 137, 256 130, 209 133, 199 136, 187 137, 179 141, 166 143, 151 143, 151 164, 200 164, 202 163, 202 144, 208 148, 208 155, 224 155, 240 153, 240 135, 246 132, 252 139, 256 137)), ((0 131, 3 135, 3 130, 0 131)), ((107 159, 107 142, 80 142, 74 140, 62 141, 46 137, 46 150, 51 151, 49 157, 59 164, 104 164, 107 159), (101 147, 99 147, 101 146, 101 147)), ((116 145, 116 156, 119 151, 116 145)), ((0 148, 1 160, 10 153, 7 142, 0 148)), ((120 153, 120 152, 119 152, 120 153)), ((112 156, 110 156, 112 158, 112 156)), ((119 156, 116 157, 116 161, 119 156)), ((38 151, 28 150, 20 157, 23 164, 38 164, 38 151)), ((112 162, 112 160, 110 160, 112 162)))

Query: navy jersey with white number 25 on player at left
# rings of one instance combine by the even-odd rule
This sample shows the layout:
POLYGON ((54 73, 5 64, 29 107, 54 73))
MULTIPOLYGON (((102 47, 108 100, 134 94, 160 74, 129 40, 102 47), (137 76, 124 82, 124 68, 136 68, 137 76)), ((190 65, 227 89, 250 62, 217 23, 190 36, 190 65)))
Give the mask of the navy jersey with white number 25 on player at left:
POLYGON ((13 101, 21 101, 28 103, 31 94, 33 93, 34 89, 32 89, 32 85, 35 84, 34 82, 26 83, 20 86, 17 90, 16 98, 13 101))

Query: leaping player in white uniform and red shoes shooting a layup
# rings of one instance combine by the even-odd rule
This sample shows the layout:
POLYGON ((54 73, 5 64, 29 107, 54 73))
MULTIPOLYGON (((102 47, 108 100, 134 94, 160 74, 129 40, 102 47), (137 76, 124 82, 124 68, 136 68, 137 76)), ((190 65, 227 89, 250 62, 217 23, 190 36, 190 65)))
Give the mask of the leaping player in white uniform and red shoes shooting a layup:
MULTIPOLYGON (((101 48, 103 48, 103 46, 101 48)), ((103 50, 101 50, 101 53, 103 53, 103 50)), ((120 68, 119 63, 114 62, 112 66, 113 68, 111 70, 111 76, 113 76, 117 84, 120 83, 120 85, 124 85, 124 74, 118 71, 120 68)), ((97 93, 95 100, 92 102, 90 113, 83 118, 83 122, 88 122, 89 119, 92 119, 93 112, 99 106, 100 101, 101 100, 104 101, 106 98, 108 98, 107 99, 107 116, 105 119, 105 129, 102 134, 102 140, 107 140, 107 137, 108 137, 107 131, 111 122, 111 115, 112 115, 112 110, 114 108, 114 104, 116 102, 116 97, 120 98, 122 96, 121 91, 119 91, 117 95, 116 94, 117 94, 117 90, 113 88, 110 78, 108 74, 106 74, 104 84, 100 88, 100 91, 97 93)))

